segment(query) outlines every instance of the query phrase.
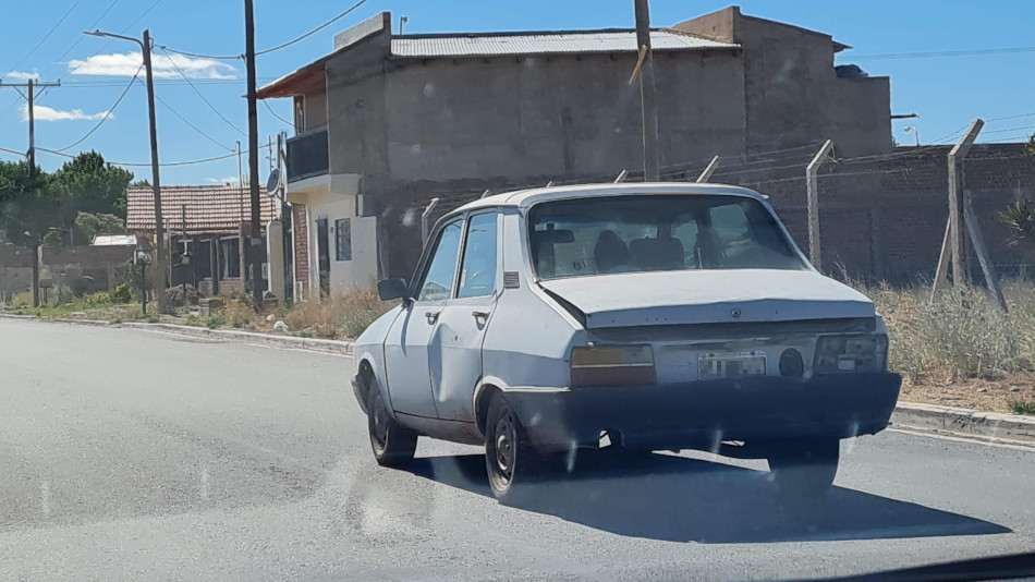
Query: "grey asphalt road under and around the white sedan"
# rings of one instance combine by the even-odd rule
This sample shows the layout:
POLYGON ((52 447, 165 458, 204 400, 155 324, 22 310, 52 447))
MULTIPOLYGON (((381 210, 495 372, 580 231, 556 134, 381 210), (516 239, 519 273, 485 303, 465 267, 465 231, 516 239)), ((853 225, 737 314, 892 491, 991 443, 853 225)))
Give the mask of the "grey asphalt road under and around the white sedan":
POLYGON ((1035 547, 1035 453, 886 432, 788 507, 765 463, 584 456, 522 509, 478 449, 370 457, 352 361, 0 320, 0 578, 746 579, 1035 547))

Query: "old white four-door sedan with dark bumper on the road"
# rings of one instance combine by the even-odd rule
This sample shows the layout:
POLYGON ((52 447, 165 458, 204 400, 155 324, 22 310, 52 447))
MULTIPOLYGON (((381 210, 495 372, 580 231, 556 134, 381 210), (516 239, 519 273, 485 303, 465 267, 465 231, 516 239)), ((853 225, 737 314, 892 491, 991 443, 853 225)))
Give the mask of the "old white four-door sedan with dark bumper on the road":
POLYGON ((376 460, 405 463, 418 435, 484 444, 503 501, 601 442, 768 459, 784 490, 820 493, 839 439, 884 429, 901 384, 873 302, 742 187, 489 196, 378 290, 402 301, 355 345, 376 460))

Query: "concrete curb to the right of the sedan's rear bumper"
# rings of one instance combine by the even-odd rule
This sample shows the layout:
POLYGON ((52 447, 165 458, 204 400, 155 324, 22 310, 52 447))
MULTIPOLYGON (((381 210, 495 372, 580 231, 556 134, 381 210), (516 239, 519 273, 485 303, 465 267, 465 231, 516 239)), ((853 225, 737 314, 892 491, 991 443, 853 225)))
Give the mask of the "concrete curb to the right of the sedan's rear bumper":
POLYGON ((976 435, 1035 445, 1035 416, 899 402, 891 414, 891 424, 897 428, 926 433, 976 435))

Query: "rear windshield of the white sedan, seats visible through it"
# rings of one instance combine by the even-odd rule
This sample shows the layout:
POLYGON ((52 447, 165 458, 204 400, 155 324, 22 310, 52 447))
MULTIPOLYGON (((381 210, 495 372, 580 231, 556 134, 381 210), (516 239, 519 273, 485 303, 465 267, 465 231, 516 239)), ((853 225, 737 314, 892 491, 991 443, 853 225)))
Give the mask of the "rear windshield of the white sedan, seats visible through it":
POLYGON ((730 195, 646 195, 541 203, 529 213, 544 279, 684 269, 803 269, 769 210, 730 195))

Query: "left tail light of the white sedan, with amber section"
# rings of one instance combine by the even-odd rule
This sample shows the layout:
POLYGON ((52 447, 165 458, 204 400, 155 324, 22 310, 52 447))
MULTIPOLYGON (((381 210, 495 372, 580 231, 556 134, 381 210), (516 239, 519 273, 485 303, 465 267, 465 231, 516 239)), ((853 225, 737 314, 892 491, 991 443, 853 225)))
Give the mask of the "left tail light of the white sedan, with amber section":
POLYGON ((571 351, 572 386, 636 386, 655 384, 654 351, 649 345, 601 345, 571 351))

